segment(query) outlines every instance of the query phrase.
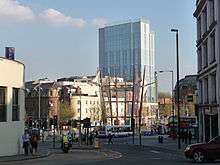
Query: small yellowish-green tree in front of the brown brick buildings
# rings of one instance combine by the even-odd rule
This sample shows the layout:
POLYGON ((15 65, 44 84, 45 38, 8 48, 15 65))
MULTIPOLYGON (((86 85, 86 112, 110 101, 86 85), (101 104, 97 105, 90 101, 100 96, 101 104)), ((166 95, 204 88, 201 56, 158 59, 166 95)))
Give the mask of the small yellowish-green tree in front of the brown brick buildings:
POLYGON ((72 110, 69 102, 63 101, 60 103, 60 121, 68 121, 72 119, 75 112, 72 110))

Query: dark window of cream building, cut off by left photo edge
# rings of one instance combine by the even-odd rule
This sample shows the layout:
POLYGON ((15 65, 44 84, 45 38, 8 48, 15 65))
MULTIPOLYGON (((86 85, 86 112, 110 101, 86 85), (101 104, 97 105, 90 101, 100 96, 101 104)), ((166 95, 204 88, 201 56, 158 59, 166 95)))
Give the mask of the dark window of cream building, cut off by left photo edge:
POLYGON ((7 120, 6 88, 0 87, 0 122, 7 120))

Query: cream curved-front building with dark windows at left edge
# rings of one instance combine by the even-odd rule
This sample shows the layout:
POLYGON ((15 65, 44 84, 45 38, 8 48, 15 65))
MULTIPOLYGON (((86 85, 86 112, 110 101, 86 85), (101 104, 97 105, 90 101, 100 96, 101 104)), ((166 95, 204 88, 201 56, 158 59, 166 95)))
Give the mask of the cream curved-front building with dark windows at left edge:
POLYGON ((22 152, 24 69, 24 64, 0 57, 0 156, 22 152))

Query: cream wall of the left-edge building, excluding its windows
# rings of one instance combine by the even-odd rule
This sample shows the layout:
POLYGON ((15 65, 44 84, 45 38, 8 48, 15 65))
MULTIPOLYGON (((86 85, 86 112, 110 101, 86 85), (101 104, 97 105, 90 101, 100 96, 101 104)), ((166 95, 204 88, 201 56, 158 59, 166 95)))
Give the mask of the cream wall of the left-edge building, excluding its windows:
POLYGON ((0 58, 0 86, 6 87, 7 121, 0 122, 0 156, 22 153, 24 132, 24 65, 0 58), (12 91, 19 88, 20 121, 12 121, 12 91))

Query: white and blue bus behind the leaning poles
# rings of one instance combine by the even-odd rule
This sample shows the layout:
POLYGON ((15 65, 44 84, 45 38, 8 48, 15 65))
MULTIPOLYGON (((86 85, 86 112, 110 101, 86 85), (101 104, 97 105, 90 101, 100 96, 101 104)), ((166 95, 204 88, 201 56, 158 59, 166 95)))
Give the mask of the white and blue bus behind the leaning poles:
POLYGON ((101 126, 98 129, 98 137, 99 138, 107 138, 109 134, 113 134, 114 137, 128 137, 132 135, 132 129, 130 125, 106 125, 101 126))

